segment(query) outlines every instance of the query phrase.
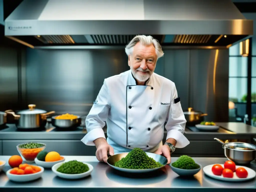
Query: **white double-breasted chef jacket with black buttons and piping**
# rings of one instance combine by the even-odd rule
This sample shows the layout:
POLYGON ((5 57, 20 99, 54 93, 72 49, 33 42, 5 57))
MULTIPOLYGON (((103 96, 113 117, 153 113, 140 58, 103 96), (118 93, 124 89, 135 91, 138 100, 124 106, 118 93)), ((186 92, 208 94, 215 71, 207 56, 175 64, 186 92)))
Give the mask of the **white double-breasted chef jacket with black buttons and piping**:
POLYGON ((131 70, 104 80, 103 86, 86 118, 88 133, 82 138, 86 145, 94 145, 97 138, 105 138, 114 153, 132 150, 155 151, 164 136, 177 141, 176 147, 189 144, 183 135, 186 119, 179 102, 174 82, 156 73, 144 86, 136 85, 131 70))

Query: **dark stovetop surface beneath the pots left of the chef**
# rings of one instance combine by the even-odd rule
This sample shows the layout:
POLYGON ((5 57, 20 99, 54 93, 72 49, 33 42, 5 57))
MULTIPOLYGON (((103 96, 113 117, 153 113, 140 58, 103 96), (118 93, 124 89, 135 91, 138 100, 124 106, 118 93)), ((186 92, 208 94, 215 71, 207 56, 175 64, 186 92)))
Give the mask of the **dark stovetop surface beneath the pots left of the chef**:
POLYGON ((0 132, 63 132, 63 131, 86 131, 85 126, 79 126, 72 129, 61 129, 52 126, 50 123, 47 123, 44 128, 37 129, 17 129, 15 124, 6 124, 5 126, 0 127, 0 132))

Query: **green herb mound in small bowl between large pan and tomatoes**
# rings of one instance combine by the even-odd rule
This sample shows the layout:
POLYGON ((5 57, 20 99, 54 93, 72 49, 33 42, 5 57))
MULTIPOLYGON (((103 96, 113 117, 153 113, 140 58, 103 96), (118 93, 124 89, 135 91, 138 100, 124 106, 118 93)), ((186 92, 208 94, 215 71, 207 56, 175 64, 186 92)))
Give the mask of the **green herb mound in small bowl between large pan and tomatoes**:
POLYGON ((173 167, 180 169, 198 169, 200 166, 195 163, 194 159, 187 155, 180 156, 177 161, 172 163, 173 167))

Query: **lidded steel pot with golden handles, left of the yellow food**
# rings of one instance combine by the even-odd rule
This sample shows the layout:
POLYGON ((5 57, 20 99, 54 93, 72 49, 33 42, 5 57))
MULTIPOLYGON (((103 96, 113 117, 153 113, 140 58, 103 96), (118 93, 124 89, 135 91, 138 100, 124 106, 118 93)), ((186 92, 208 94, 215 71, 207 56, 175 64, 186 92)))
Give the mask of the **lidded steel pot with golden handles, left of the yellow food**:
POLYGON ((7 112, 12 114, 15 118, 15 125, 18 129, 35 129, 45 127, 47 123, 47 116, 55 113, 55 111, 47 112, 41 109, 35 109, 36 105, 28 105, 27 110, 14 112, 7 112))

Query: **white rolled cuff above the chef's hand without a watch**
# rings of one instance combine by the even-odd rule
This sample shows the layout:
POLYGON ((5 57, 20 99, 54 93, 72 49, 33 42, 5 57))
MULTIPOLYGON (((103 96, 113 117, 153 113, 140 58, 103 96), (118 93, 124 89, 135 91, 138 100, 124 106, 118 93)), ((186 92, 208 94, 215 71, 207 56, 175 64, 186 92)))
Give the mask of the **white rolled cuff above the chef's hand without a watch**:
POLYGON ((105 133, 103 131, 103 129, 101 128, 96 128, 96 129, 93 129, 91 131, 89 131, 82 139, 81 141, 86 144, 86 145, 95 145, 93 143, 93 141, 95 139, 98 139, 98 138, 105 138, 105 133))

